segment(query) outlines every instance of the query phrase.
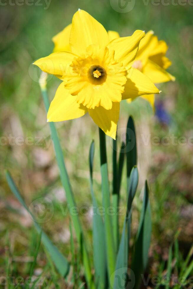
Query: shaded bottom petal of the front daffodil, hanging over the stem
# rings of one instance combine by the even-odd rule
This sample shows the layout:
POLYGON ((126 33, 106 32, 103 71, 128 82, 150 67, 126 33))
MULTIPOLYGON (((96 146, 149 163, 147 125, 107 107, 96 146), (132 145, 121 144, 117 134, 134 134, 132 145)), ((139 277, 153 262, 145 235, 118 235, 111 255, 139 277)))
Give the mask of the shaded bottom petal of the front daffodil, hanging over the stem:
POLYGON ((119 119, 119 103, 112 103, 112 109, 106 110, 102 106, 95 107, 94 109, 88 109, 89 115, 94 122, 113 139, 116 138, 117 122, 119 119))

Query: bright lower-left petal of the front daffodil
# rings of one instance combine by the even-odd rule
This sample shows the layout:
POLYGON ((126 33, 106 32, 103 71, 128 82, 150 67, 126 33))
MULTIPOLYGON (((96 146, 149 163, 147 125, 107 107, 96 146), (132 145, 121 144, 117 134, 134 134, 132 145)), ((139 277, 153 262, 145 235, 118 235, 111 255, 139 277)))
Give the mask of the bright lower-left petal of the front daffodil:
POLYGON ((50 104, 47 118, 48 121, 64 121, 81 117, 86 112, 86 107, 77 104, 76 96, 72 96, 62 82, 50 104))

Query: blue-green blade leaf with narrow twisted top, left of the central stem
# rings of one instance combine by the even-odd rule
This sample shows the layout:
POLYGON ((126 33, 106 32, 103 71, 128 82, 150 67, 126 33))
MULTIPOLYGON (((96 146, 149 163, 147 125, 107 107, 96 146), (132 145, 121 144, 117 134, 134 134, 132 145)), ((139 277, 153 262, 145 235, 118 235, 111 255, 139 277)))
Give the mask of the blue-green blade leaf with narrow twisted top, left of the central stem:
POLYGON ((89 150, 89 169, 90 169, 90 188, 93 203, 93 250, 96 288, 107 288, 107 260, 105 251, 104 222, 98 211, 93 190, 93 160, 94 160, 94 141, 91 142, 89 150))

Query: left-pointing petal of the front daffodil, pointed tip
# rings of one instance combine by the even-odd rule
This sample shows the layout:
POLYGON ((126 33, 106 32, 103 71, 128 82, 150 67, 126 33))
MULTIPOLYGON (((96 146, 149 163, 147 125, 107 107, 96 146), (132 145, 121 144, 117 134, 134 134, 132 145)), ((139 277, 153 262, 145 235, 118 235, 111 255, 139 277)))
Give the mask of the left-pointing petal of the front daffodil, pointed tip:
POLYGON ((74 57, 77 57, 77 55, 69 51, 55 52, 36 60, 33 64, 49 74, 66 75, 70 70, 70 64, 74 57))

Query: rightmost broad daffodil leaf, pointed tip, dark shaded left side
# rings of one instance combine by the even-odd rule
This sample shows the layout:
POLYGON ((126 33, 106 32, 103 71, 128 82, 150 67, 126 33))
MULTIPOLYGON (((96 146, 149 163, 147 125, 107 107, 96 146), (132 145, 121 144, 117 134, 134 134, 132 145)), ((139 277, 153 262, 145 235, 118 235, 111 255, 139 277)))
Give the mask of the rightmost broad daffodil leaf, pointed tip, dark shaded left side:
POLYGON ((145 181, 143 207, 140 216, 138 233, 136 236, 134 255, 131 269, 135 275, 135 287, 139 288, 141 274, 144 272, 148 262, 148 251, 151 241, 151 208, 149 202, 149 188, 145 181))

